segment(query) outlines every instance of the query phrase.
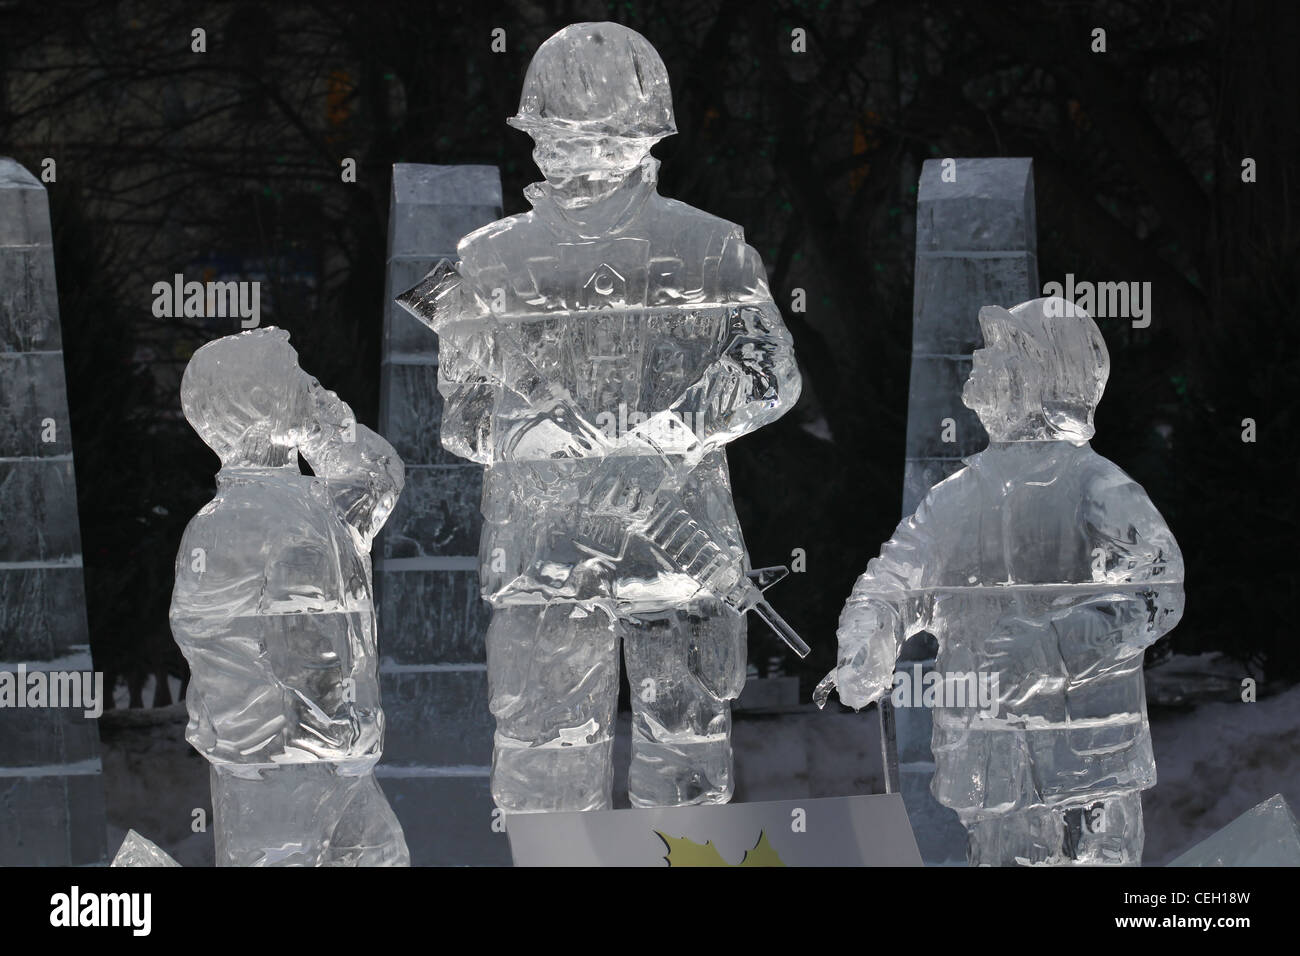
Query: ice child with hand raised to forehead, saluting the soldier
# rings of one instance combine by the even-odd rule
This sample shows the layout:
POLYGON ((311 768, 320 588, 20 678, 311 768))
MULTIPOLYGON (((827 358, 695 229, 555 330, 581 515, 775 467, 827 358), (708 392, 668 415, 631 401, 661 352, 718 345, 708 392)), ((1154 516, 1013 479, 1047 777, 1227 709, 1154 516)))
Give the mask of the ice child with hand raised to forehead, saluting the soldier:
POLYGON ((191 672, 186 739, 212 763, 217 865, 408 865, 373 774, 370 541, 402 492, 402 459, 299 368, 281 329, 199 349, 181 403, 221 459, 172 594, 191 672))

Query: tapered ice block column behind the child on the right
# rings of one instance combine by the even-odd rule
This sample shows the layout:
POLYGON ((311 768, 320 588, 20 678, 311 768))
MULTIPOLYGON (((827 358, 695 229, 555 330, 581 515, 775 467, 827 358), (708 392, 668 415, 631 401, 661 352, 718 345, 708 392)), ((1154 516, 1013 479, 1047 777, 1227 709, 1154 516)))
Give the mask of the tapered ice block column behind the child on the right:
MULTIPOLYGON (((1010 308, 1039 297, 1034 168, 1028 159, 931 159, 916 190, 916 269, 913 293, 911 385, 907 389, 907 459, 902 514, 988 444, 975 412, 962 405, 971 352, 983 343, 979 311, 1010 308)), ((928 635, 911 641, 898 669, 935 663, 928 635)), ((935 762, 930 711, 881 702, 887 761, 890 722, 898 777, 920 855, 927 864, 966 860, 957 814, 930 792, 935 762)))

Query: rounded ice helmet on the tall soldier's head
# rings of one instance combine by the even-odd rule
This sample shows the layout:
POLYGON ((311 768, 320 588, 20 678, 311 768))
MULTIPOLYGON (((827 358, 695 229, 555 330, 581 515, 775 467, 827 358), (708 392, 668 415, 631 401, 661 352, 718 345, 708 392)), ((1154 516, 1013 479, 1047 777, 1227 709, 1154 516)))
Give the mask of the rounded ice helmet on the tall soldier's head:
POLYGON ((620 23, 573 23, 547 39, 524 77, 524 131, 662 139, 677 131, 668 70, 650 42, 620 23))

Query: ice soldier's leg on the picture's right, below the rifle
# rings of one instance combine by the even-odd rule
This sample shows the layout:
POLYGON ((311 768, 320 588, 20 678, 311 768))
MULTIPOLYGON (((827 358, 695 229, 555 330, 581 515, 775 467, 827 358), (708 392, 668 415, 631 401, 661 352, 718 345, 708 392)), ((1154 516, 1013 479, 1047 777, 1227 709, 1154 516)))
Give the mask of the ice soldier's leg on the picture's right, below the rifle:
POLYGON ((623 623, 632 805, 727 803, 734 791, 731 701, 745 684, 745 619, 710 600, 623 623))

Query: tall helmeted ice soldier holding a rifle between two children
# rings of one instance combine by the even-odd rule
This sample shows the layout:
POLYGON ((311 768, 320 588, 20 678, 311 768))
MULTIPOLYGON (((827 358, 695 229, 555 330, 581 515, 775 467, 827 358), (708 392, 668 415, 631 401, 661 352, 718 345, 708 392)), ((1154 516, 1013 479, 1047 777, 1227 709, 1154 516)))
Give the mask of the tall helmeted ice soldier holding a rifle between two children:
POLYGON ((619 648, 637 806, 731 797, 746 572, 724 445, 798 398, 790 336, 740 226, 655 190, 675 131, 640 34, 577 23, 537 51, 511 125, 532 212, 460 241, 400 302, 439 337, 442 444, 481 462, 493 606, 491 791, 507 812, 610 805, 619 648))

